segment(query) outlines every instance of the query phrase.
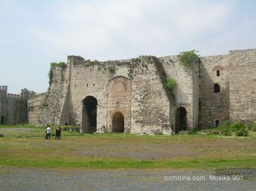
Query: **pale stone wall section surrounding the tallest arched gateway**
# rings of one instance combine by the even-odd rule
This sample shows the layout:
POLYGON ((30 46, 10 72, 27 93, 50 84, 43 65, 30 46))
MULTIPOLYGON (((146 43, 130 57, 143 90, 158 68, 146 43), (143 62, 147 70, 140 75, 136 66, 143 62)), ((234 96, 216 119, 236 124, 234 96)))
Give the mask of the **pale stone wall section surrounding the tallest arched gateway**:
POLYGON ((106 127, 106 83, 110 77, 104 65, 89 65, 80 56, 68 56, 70 64, 70 109, 73 112, 70 119, 76 125, 82 124, 83 100, 87 96, 97 99, 97 129, 104 130, 106 127), (88 65, 86 65, 88 64, 88 65))

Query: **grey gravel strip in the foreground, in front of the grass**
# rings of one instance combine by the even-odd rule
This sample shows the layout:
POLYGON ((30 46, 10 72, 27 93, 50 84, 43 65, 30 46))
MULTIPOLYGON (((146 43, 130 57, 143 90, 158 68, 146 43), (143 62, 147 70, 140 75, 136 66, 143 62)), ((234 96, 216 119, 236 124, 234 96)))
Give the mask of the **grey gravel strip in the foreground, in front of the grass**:
POLYGON ((0 190, 256 190, 256 181, 211 180, 214 170, 50 170, 2 168, 0 190), (166 177, 205 177, 169 180, 166 177))

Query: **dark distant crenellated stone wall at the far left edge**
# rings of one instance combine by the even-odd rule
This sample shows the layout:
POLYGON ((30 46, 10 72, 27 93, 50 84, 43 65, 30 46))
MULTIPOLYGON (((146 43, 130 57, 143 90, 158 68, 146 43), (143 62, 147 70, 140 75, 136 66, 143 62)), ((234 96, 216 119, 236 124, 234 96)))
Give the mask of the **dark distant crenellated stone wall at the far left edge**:
POLYGON ((16 95, 7 89, 0 86, 0 125, 28 123, 28 98, 35 92, 22 89, 20 95, 16 95))

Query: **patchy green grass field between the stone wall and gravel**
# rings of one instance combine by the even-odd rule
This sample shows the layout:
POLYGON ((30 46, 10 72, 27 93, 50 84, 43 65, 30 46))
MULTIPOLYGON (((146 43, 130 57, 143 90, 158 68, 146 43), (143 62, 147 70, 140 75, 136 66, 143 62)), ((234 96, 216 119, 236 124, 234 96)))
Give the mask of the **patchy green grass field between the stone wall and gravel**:
POLYGON ((0 126, 0 166, 50 168, 231 168, 256 167, 256 134, 103 135, 62 133, 45 140, 45 128, 0 126), (21 138, 14 138, 21 135, 21 138), (79 135, 79 136, 78 136, 79 135), (27 137, 26 137, 27 136, 27 137))

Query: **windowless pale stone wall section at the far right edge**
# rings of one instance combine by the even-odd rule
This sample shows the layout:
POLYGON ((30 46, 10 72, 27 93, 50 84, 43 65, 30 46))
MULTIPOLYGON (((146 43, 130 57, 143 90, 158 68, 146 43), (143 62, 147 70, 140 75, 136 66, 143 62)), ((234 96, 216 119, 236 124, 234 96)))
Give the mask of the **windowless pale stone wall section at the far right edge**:
POLYGON ((250 123, 256 119, 256 49, 229 52, 229 118, 250 123))

